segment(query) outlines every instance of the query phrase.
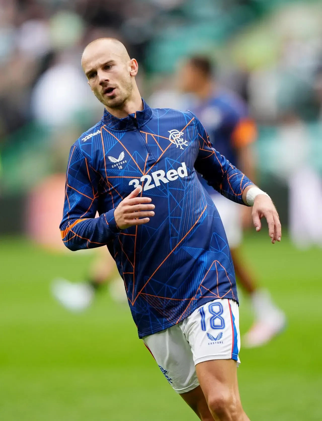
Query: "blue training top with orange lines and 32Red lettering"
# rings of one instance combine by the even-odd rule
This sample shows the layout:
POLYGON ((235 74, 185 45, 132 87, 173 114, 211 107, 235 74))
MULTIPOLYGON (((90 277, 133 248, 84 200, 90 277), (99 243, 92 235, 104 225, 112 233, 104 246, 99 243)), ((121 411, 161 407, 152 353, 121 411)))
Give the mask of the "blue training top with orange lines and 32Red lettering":
POLYGON ((143 105, 122 119, 105 110, 71 147, 60 225, 70 250, 107 245, 140 338, 216 298, 238 302, 222 221, 195 170, 238 203, 252 184, 216 152, 193 113, 143 105), (114 209, 139 185, 155 216, 119 230, 114 209))

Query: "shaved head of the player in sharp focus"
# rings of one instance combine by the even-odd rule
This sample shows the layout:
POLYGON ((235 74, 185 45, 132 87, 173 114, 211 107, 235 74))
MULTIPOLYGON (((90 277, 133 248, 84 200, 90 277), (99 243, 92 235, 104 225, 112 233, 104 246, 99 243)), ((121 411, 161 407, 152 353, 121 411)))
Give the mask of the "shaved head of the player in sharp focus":
MULTIPOLYGON (((115 38, 98 38, 82 54, 82 68, 96 98, 109 112, 123 109, 133 95, 140 94, 135 83, 138 64, 115 38)), ((115 115, 115 112, 114 112, 115 115)))

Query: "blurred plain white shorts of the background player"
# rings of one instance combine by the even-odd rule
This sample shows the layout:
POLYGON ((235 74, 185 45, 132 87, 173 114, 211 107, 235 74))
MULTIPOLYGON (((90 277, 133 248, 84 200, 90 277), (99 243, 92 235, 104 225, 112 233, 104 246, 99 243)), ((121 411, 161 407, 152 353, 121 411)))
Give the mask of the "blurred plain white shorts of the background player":
POLYGON ((243 229, 241 221, 241 206, 232 200, 226 199, 222 195, 211 195, 219 216, 224 225, 227 235, 228 245, 235 248, 240 245, 243 239, 243 229))

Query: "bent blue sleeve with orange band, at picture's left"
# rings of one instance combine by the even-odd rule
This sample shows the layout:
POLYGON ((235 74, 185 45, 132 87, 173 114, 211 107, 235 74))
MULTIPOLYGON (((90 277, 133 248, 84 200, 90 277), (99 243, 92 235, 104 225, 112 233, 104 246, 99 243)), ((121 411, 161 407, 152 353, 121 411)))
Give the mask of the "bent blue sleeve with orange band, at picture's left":
POLYGON ((70 250, 106 245, 119 232, 114 209, 95 218, 98 181, 82 152, 74 145, 69 154, 61 237, 70 250))

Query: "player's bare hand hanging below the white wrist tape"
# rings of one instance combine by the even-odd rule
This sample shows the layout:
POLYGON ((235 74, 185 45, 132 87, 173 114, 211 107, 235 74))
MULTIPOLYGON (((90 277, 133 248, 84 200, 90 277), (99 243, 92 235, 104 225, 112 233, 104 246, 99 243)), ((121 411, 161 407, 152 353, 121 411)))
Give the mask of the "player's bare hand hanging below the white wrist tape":
POLYGON ((282 229, 280 218, 270 197, 265 195, 256 196, 251 216, 256 231, 261 230, 261 218, 265 217, 268 224, 268 234, 272 239, 272 243, 274 244, 276 241, 281 240, 282 229))

